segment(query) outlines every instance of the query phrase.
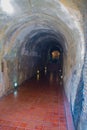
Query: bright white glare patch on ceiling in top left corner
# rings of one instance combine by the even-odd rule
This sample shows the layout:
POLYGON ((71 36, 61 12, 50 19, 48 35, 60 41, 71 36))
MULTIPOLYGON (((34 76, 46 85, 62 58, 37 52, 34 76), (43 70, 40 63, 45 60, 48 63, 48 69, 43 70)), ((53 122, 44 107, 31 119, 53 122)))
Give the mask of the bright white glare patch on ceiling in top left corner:
POLYGON ((1 0, 1 7, 4 12, 12 14, 14 9, 11 4, 11 0, 1 0))

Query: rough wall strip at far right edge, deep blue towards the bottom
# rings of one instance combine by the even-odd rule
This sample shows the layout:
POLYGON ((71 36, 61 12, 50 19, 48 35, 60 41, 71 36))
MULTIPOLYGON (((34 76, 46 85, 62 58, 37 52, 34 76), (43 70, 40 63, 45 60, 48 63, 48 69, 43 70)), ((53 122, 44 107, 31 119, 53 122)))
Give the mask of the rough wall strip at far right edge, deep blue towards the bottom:
MULTIPOLYGON (((76 130, 87 130, 87 2, 86 0, 76 1, 73 0, 74 7, 76 6, 77 9, 81 12, 82 21, 81 25, 83 27, 83 34, 85 38, 85 60, 84 66, 82 69, 80 82, 78 84, 77 94, 75 97, 74 107, 72 107, 73 118, 75 123, 76 130)), ((78 19, 80 20, 80 19, 78 19)), ((74 81, 73 76, 73 80, 74 81)), ((72 85, 72 84, 71 84, 72 85)), ((74 86, 72 85, 72 88, 74 86)), ((73 95, 73 94, 72 94, 73 95)))

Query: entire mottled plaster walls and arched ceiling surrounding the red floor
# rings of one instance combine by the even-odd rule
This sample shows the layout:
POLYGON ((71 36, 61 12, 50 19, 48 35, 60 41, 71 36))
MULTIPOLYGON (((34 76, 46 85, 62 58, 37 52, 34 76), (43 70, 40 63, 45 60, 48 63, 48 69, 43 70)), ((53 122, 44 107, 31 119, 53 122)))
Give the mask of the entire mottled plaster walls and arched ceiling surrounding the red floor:
POLYGON ((37 71, 50 71, 52 64, 54 72, 61 72, 75 130, 86 130, 83 7, 70 1, 0 1, 0 97, 12 93, 15 85, 21 88, 37 71), (59 59, 52 59, 55 51, 59 59))

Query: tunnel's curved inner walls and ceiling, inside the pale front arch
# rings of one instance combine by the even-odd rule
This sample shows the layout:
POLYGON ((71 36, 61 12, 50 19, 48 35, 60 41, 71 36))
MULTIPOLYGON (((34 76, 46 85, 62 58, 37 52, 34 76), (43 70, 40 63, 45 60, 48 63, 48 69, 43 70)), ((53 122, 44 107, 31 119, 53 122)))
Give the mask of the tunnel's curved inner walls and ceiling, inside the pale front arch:
MULTIPOLYGON (((57 5, 58 3, 55 7, 57 5)), ((51 8, 55 13, 37 11, 9 24, 3 41, 2 62, 5 67, 2 72, 1 96, 13 90, 15 83, 20 86, 33 77, 38 69, 43 70, 48 63, 48 54, 58 49, 63 59, 60 63, 65 92, 73 108, 75 98, 71 93, 71 86, 76 86, 76 89, 73 89, 75 97, 83 64, 84 40, 74 19, 65 9, 62 10, 61 4, 59 7, 55 8, 57 12, 51 8), (80 37, 80 40, 77 37, 80 37), (51 50, 52 48, 54 49, 51 50)))

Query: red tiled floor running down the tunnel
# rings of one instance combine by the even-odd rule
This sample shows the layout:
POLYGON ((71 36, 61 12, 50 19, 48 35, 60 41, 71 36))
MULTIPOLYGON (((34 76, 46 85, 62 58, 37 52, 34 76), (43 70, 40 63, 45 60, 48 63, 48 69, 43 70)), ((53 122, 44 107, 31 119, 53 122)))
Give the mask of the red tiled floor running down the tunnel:
POLYGON ((0 99, 0 130, 73 130, 57 74, 37 75, 37 80, 27 81, 0 99))

